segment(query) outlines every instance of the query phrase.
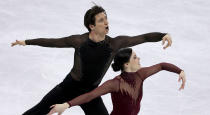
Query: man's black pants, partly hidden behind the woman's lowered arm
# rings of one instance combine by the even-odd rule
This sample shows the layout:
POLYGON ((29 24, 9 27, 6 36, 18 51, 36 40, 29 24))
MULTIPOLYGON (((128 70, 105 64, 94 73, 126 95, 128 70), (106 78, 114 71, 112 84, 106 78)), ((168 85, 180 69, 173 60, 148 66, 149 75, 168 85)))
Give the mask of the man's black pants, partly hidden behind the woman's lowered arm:
MULTIPOLYGON (((84 84, 73 80, 71 76, 67 76, 63 82, 54 87, 37 105, 23 113, 23 115, 46 115, 50 111, 51 105, 67 102, 94 88, 96 87, 87 88, 84 84)), ((101 97, 82 104, 80 107, 85 112, 85 115, 108 115, 101 97)))

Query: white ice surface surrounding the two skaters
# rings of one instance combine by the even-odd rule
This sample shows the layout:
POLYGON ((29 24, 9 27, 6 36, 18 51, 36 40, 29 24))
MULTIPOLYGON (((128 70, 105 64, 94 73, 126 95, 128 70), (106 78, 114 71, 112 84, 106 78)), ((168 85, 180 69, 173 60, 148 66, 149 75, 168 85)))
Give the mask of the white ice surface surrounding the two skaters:
MULTIPOLYGON (((210 115, 210 1, 92 0, 107 12, 112 37, 167 32, 172 47, 161 42, 133 47, 142 66, 173 63, 185 70, 186 88, 166 71, 144 82, 139 115, 210 115)), ((15 46, 16 39, 59 38, 87 32, 83 16, 90 0, 0 1, 0 115, 20 115, 37 104, 73 65, 72 48, 15 46)), ((113 78, 110 68, 102 83, 113 78)), ((110 95, 103 96, 112 111, 110 95)), ((84 115, 72 107, 63 115, 84 115)))

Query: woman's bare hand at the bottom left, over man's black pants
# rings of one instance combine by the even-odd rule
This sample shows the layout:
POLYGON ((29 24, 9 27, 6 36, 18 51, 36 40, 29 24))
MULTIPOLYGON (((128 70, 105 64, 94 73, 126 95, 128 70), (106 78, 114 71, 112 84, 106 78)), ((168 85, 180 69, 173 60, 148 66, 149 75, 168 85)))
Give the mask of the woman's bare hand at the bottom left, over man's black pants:
POLYGON ((52 115, 54 113, 58 113, 58 115, 61 115, 68 107, 69 107, 68 103, 52 105, 50 107, 52 109, 50 110, 50 112, 47 115, 52 115))

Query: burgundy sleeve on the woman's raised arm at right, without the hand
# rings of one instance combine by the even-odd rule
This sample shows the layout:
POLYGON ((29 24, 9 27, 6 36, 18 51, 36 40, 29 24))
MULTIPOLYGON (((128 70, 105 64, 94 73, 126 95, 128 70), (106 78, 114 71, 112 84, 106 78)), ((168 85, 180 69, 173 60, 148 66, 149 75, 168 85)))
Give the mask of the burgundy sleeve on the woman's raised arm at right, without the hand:
POLYGON ((177 74, 181 73, 181 69, 173 64, 170 63, 159 63, 150 67, 145 67, 140 69, 138 72, 138 74, 140 75, 140 77, 142 78, 142 80, 145 80, 147 77, 161 71, 161 70, 166 70, 169 72, 174 72, 177 74))

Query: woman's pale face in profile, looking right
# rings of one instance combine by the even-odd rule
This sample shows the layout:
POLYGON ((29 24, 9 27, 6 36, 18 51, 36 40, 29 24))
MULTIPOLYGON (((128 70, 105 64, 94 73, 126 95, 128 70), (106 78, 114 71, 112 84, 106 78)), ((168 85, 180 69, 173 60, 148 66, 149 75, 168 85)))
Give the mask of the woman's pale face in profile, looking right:
POLYGON ((136 53, 132 51, 130 61, 127 63, 127 68, 131 71, 137 71, 141 67, 140 65, 140 58, 137 57, 136 53))

